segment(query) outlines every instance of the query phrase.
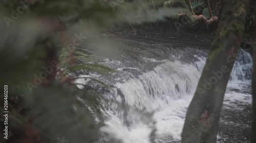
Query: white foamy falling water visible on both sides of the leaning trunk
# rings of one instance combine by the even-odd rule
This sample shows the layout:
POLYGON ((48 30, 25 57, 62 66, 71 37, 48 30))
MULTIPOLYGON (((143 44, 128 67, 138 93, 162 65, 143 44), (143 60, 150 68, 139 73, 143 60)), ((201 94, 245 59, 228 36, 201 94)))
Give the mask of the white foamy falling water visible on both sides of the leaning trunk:
MULTIPOLYGON (((199 57, 194 64, 180 61, 165 61, 145 72, 139 78, 132 78, 124 83, 116 83, 119 92, 112 104, 111 116, 100 129, 104 142, 147 143, 152 131, 155 142, 171 142, 181 139, 186 108, 197 87, 206 58, 199 57), (119 104, 127 105, 120 108, 119 104), (147 113, 154 113, 152 116, 147 113), (154 124, 155 123, 155 124, 154 124)), ((155 60, 150 59, 155 62, 155 60)), ((251 56, 241 50, 235 63, 228 88, 242 91, 250 84, 251 56)), ((249 94, 227 90, 224 107, 240 109, 234 102, 250 104, 249 94)))

